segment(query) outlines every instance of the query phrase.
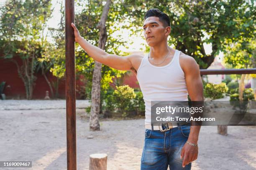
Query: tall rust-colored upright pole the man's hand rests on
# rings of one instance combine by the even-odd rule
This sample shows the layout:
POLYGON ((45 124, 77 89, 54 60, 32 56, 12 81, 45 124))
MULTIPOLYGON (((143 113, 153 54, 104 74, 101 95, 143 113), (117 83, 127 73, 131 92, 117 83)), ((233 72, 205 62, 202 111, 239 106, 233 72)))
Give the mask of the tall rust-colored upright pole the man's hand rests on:
POLYGON ((65 0, 67 170, 77 169, 74 0, 65 0))

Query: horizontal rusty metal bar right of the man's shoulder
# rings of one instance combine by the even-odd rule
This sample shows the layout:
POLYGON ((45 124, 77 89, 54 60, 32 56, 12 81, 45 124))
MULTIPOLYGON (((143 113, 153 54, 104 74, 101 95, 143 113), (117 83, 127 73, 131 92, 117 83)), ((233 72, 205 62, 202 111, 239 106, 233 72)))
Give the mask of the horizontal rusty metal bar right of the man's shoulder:
POLYGON ((227 75, 227 74, 256 74, 256 68, 246 69, 223 69, 223 70, 207 70, 201 69, 200 75, 227 75))

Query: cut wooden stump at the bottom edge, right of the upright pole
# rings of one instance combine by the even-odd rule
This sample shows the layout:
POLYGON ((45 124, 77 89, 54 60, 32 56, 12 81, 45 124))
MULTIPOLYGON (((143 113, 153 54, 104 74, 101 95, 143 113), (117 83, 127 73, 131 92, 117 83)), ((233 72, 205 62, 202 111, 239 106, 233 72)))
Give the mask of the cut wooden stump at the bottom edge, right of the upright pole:
POLYGON ((106 153, 96 153, 90 155, 89 170, 107 170, 107 158, 106 153))

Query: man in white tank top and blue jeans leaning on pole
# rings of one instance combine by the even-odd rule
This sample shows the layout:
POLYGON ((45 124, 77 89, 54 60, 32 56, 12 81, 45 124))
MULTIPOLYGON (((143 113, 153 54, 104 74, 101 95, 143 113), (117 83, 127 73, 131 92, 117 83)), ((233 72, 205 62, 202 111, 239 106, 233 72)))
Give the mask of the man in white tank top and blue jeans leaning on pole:
POLYGON ((189 170, 197 159, 200 126, 153 126, 151 101, 203 100, 200 70, 194 58, 174 50, 167 44, 171 32, 169 17, 158 9, 150 9, 144 17, 143 31, 150 52, 145 56, 118 56, 84 40, 75 25, 75 41, 94 60, 117 70, 131 70, 138 79, 146 106, 145 144, 141 170, 189 170))

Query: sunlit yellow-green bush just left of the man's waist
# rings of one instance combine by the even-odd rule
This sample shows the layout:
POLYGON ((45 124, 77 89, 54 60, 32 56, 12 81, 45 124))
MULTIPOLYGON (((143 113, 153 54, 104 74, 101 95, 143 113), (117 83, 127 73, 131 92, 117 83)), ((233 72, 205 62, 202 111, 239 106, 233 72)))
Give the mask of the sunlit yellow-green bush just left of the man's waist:
POLYGON ((128 85, 116 86, 116 90, 113 92, 114 102, 118 111, 122 114, 122 117, 128 115, 128 111, 134 110, 133 99, 136 94, 133 88, 128 85))

